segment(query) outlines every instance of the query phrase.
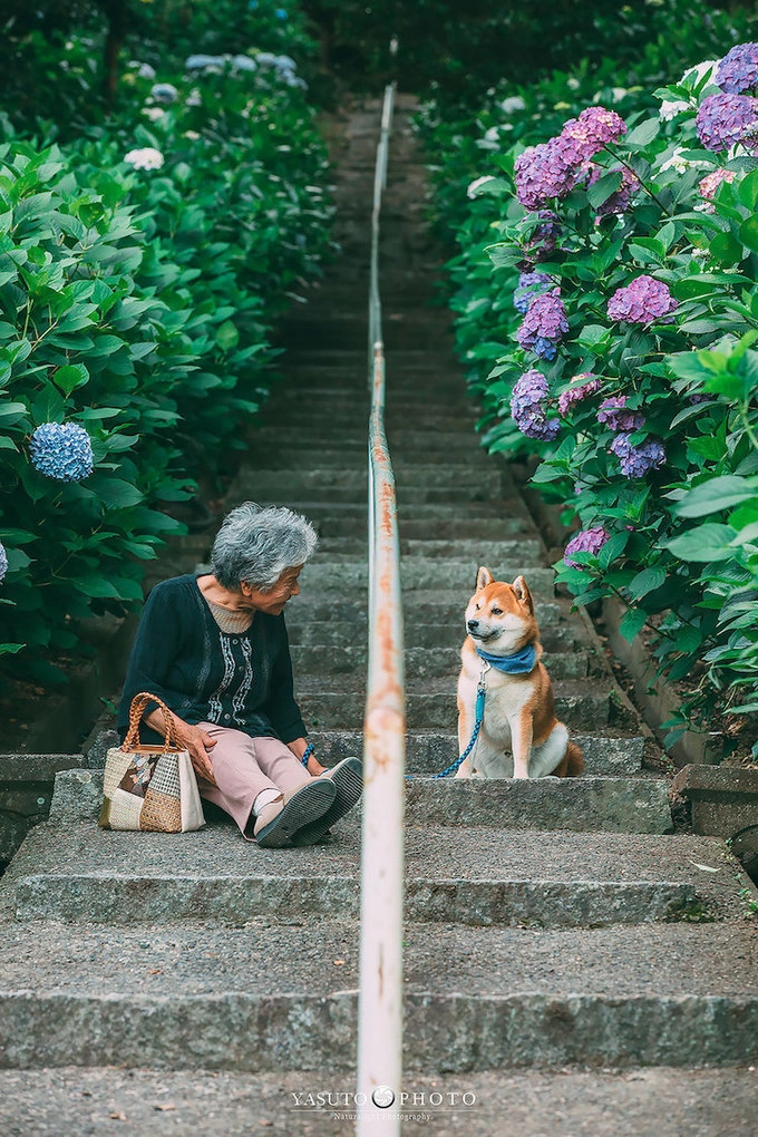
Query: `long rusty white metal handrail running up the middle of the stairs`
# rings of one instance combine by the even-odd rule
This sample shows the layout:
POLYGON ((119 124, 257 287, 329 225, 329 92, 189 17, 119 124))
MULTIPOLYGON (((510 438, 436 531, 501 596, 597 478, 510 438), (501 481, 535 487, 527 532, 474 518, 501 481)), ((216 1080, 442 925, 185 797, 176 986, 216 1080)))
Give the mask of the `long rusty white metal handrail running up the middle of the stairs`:
POLYGON ((400 542, 384 431, 384 345, 378 288, 382 193, 394 84, 384 92, 372 210, 368 424, 368 688, 364 717, 358 1137, 400 1132, 406 694, 400 542), (390 1095, 395 1101, 390 1101, 390 1095), (393 1105, 395 1107, 393 1107, 393 1105))

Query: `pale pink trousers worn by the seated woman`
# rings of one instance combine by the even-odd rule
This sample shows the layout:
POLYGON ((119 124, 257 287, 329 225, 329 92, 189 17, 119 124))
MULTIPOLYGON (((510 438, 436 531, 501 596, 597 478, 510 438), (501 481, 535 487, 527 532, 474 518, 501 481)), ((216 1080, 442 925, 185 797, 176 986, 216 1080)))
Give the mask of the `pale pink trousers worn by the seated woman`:
POLYGON ((217 785, 198 778, 200 794, 228 813, 244 836, 252 803, 261 790, 291 794, 310 781, 308 771, 278 738, 251 738, 215 722, 199 722, 198 727, 216 739, 208 757, 217 785))

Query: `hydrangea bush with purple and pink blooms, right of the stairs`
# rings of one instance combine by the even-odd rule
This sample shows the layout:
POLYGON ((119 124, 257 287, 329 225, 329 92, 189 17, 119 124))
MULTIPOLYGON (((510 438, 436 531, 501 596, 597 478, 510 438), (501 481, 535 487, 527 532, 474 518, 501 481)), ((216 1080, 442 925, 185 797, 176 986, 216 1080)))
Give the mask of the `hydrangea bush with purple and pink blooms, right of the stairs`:
POLYGON ((453 265, 485 442, 542 456, 580 526, 557 566, 577 600, 618 596, 625 634, 694 680, 676 729, 758 694, 756 59, 550 116, 527 147, 499 134, 453 265))

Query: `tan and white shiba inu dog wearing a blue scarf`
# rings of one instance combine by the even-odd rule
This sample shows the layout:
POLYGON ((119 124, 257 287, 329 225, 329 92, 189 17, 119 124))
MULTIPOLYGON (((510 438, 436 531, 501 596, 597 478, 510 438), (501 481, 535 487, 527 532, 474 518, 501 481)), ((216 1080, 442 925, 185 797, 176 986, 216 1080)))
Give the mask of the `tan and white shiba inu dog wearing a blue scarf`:
POLYGON ((523 576, 513 584, 480 568, 466 608, 468 632, 460 652, 458 742, 468 746, 480 680, 484 719, 472 755, 457 778, 576 778, 584 758, 558 722, 534 603, 523 576))

